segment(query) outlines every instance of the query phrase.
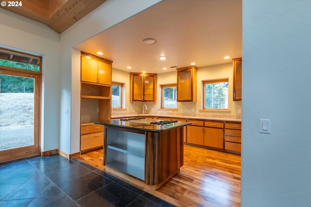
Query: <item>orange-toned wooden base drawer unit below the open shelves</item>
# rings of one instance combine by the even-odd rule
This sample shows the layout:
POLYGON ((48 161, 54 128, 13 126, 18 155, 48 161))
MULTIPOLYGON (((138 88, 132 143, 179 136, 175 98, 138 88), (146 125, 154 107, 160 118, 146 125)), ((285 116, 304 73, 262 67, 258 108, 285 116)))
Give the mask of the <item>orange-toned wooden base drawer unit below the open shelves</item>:
POLYGON ((103 147, 104 143, 104 126, 99 124, 83 123, 81 124, 81 141, 80 151, 86 152, 89 150, 103 147))

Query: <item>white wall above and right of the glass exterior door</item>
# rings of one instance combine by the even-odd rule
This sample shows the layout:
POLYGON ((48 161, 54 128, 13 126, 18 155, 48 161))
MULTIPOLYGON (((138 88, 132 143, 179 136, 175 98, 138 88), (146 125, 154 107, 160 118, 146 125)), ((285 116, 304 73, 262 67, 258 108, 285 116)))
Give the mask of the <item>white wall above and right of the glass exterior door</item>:
POLYGON ((58 149, 59 35, 41 23, 0 8, 0 46, 43 56, 40 149, 58 149))

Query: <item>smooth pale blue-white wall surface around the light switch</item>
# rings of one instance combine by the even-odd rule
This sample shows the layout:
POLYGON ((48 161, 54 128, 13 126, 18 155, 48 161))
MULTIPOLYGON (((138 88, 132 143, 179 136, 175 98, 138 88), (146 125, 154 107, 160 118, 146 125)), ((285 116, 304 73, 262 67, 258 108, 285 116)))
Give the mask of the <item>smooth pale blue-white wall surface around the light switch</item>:
POLYGON ((310 207, 311 1, 242 5, 242 207, 310 207))

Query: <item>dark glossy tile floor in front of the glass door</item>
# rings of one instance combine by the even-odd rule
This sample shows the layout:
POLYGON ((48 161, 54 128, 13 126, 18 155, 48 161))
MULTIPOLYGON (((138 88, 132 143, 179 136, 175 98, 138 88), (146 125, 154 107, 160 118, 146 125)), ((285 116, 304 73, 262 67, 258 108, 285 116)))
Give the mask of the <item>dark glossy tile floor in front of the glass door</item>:
POLYGON ((36 156, 0 165, 0 207, 170 207, 78 159, 36 156))

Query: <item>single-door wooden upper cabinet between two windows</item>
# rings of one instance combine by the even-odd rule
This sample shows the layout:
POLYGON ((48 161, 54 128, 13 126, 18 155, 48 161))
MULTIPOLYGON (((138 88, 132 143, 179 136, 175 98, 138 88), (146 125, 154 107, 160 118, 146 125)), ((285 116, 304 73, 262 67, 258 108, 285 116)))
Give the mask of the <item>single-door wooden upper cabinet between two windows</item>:
POLYGON ((196 102, 197 68, 177 69, 177 102, 196 102))

